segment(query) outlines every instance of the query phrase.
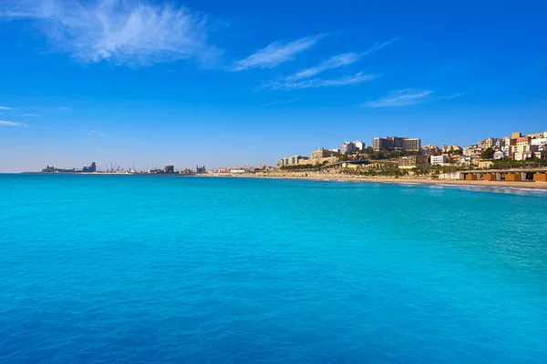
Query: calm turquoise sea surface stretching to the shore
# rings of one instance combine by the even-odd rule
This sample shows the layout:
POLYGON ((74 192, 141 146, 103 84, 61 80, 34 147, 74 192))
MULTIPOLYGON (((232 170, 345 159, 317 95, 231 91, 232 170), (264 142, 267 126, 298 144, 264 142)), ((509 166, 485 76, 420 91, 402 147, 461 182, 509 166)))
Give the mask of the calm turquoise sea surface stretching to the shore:
POLYGON ((547 195, 507 191, 0 175, 0 362, 547 363, 547 195))

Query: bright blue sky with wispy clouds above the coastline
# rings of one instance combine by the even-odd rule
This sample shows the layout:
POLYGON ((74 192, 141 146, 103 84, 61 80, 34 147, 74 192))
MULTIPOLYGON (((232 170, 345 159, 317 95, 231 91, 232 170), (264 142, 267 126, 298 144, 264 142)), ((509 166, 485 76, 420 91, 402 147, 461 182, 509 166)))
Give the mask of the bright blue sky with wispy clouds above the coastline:
POLYGON ((0 172, 545 131, 545 14, 539 0, 0 0, 0 172))

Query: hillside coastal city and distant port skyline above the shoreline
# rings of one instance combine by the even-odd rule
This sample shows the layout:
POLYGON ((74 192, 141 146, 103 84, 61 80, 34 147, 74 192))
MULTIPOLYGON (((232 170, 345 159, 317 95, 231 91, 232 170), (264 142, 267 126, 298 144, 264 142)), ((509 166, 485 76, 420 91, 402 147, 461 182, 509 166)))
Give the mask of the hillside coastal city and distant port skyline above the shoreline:
MULTIPOLYGON (((315 172, 363 172, 369 169, 366 166, 378 160, 391 159, 391 167, 396 167, 399 170, 414 169, 419 167, 442 167, 450 166, 452 170, 472 169, 479 167, 480 169, 499 166, 499 162, 507 163, 519 162, 513 165, 522 166, 522 164, 539 164, 536 167, 541 167, 547 161, 547 131, 522 134, 519 132, 511 132, 507 136, 486 137, 480 142, 467 147, 461 147, 458 144, 445 144, 438 146, 435 144, 423 145, 420 137, 408 136, 379 136, 374 137, 371 144, 366 145, 361 140, 346 141, 335 148, 320 147, 309 153, 309 156, 301 154, 282 157, 278 160, 277 165, 268 165, 266 163, 258 164, 257 166, 244 165, 227 165, 223 167, 207 167, 197 166, 195 168, 180 167, 173 164, 167 164, 160 167, 160 164, 148 166, 146 168, 136 167, 135 163, 128 167, 122 167, 118 163, 105 164, 98 166, 96 162, 92 162, 89 166, 84 167, 54 167, 46 166, 41 170, 42 173, 108 173, 108 174, 180 174, 180 175, 200 175, 200 174, 228 174, 228 175, 243 175, 263 172, 280 172, 292 170, 313 170, 315 172), (375 155, 375 153, 377 153, 375 155), (397 159, 395 164, 393 159, 397 159), (498 165, 494 165, 494 161, 498 165), (364 168, 365 167, 365 168, 364 168), (455 169, 454 169, 455 168, 455 169)), ((383 173, 386 172, 386 167, 382 167, 383 173)), ((27 171, 36 173, 37 171, 27 171)), ((428 171, 428 173, 434 171, 428 171)), ((414 172, 413 172, 414 173, 414 172)), ((451 177, 452 178, 452 177, 451 177)))

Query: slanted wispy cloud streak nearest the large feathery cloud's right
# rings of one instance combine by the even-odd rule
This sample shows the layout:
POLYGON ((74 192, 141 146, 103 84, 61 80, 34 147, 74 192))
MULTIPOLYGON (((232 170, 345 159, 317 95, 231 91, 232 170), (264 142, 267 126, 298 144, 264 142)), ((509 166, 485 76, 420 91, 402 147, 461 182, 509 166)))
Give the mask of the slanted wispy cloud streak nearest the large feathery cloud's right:
POLYGON ((284 62, 293 60, 294 57, 317 44, 324 36, 324 34, 305 36, 288 43, 274 42, 245 59, 233 62, 227 70, 237 72, 249 68, 274 68, 284 62))

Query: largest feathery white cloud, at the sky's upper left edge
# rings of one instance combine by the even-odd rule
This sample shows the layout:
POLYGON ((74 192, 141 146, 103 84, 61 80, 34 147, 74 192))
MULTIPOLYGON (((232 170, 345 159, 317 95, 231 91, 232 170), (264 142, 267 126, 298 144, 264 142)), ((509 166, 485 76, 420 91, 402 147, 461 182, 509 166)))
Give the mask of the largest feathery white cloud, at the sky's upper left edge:
POLYGON ((219 53, 203 16, 152 0, 20 0, 0 17, 36 20, 54 45, 84 63, 207 62, 219 53))

